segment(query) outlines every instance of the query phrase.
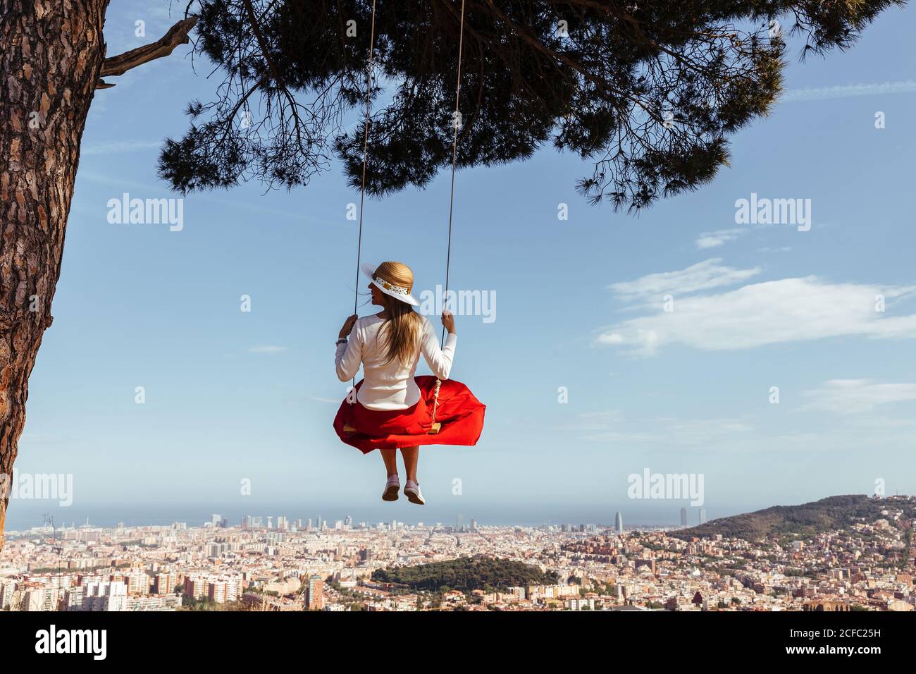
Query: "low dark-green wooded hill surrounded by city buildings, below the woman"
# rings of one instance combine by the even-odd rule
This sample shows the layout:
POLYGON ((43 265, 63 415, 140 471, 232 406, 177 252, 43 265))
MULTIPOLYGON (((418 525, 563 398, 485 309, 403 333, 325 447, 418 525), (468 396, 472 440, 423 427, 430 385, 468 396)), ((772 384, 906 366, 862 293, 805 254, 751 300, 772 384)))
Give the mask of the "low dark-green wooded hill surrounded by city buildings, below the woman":
POLYGON ((542 573, 538 567, 508 559, 461 557, 414 567, 377 569, 372 580, 402 585, 414 591, 472 590, 505 591, 524 585, 551 585, 557 582, 552 571, 542 573))

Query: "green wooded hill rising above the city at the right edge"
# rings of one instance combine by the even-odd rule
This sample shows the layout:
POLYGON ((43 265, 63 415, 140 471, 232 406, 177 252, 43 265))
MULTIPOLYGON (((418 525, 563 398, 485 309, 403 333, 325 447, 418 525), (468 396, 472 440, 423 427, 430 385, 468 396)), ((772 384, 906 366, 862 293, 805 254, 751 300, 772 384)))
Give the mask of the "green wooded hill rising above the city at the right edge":
POLYGON ((678 529, 671 536, 682 539, 714 536, 743 538, 756 541, 768 536, 797 534, 812 536, 824 531, 843 529, 863 518, 872 523, 884 515, 882 510, 902 509, 905 517, 913 517, 916 506, 912 499, 874 499, 860 494, 830 496, 801 505, 775 505, 754 513, 722 517, 689 529, 678 529))

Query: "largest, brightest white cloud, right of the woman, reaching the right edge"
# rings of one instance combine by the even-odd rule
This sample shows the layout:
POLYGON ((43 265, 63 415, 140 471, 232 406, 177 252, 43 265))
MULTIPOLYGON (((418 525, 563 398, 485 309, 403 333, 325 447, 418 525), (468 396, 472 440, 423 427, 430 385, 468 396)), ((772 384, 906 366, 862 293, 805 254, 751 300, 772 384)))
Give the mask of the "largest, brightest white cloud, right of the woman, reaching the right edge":
MULTIPOLYGON (((708 271, 709 262, 717 261, 707 260, 703 269, 708 271)), ((717 271, 709 274, 697 273, 697 267, 700 265, 615 284, 633 296, 672 290, 673 311, 660 311, 659 304, 657 311, 605 328, 596 337, 597 344, 629 347, 632 355, 652 356, 659 348, 675 344, 734 350, 825 337, 916 337, 916 315, 875 311, 876 295, 884 295, 889 302, 911 295, 916 286, 829 283, 807 276, 753 283, 724 293, 681 296, 690 289, 722 285, 742 273, 757 272, 715 266, 717 271), (683 282, 680 293, 671 280, 683 282)))

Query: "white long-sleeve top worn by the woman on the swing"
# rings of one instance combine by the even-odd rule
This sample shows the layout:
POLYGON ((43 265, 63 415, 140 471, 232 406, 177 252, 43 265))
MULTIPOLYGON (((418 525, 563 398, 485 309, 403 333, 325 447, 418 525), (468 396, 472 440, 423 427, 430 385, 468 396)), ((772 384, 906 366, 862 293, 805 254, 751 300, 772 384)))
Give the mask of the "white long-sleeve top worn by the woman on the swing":
POLYGON ((406 410, 420 400, 420 389, 413 381, 420 362, 420 353, 426 359, 432 373, 442 381, 449 378, 458 337, 449 333, 445 346, 439 348, 439 338, 430 319, 423 318, 420 343, 414 351, 409 365, 404 366, 398 359, 385 363, 386 351, 379 342, 378 331, 387 319, 377 315, 365 316, 356 321, 346 344, 337 345, 334 365, 340 381, 356 376, 360 363, 363 364, 363 385, 356 393, 356 400, 370 410, 406 410))

